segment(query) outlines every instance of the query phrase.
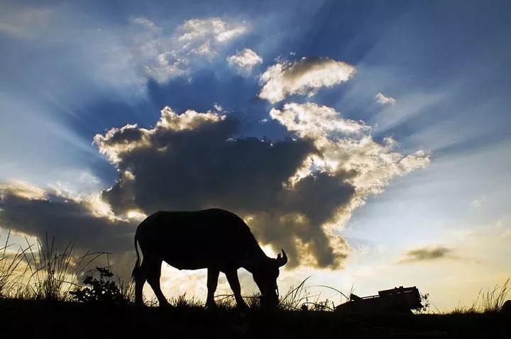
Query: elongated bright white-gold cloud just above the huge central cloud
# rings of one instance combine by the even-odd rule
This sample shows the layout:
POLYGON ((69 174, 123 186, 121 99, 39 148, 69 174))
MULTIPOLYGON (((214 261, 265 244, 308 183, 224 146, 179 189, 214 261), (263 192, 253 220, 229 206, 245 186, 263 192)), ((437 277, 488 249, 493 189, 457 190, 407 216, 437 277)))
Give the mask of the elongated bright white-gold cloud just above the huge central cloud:
POLYGON ((322 87, 348 81, 355 72, 355 67, 346 62, 329 58, 280 60, 261 74, 259 97, 275 104, 290 95, 314 96, 322 87))

